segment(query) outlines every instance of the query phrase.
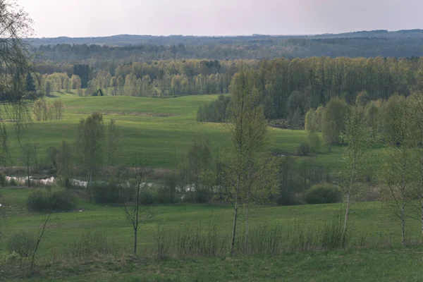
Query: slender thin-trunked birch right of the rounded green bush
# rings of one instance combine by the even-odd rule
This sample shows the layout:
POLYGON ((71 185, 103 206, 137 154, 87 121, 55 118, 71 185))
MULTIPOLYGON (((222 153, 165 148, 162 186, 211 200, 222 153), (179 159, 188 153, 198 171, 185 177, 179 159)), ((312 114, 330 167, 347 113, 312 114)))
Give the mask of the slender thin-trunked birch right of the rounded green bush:
POLYGON ((340 166, 341 189, 347 196, 343 228, 343 233, 346 235, 350 216, 350 200, 354 192, 353 186, 365 167, 365 157, 372 145, 370 128, 364 118, 364 108, 358 102, 351 107, 345 117, 345 131, 341 137, 346 144, 340 166))

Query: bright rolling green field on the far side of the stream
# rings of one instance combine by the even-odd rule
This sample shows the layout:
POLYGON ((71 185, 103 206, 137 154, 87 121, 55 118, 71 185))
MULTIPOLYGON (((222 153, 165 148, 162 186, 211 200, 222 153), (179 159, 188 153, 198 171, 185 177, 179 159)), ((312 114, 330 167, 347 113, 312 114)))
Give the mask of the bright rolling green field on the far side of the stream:
MULTIPOLYGON (((66 103, 63 120, 35 121, 27 130, 26 141, 37 144, 40 157, 44 157, 48 147, 58 147, 62 140, 73 142, 80 119, 96 111, 104 114, 105 123, 114 119, 120 126, 123 161, 126 164, 132 164, 135 152, 142 150, 150 166, 174 168, 195 140, 208 140, 215 155, 224 154, 231 145, 225 125, 196 121, 199 107, 214 101, 217 95, 168 99, 55 95, 66 103)), ((271 128, 269 150, 278 154, 293 154, 306 138, 304 130, 271 128)), ((324 161, 326 166, 336 166, 342 152, 341 147, 335 147, 331 154, 317 154, 317 159, 324 161)), ((20 149, 17 144, 12 153, 13 159, 18 161, 20 149)))

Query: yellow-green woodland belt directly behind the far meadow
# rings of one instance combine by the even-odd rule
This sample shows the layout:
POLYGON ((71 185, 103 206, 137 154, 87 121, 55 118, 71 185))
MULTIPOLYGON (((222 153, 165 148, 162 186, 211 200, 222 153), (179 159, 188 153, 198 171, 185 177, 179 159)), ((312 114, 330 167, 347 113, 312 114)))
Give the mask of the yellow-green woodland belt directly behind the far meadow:
MULTIPOLYGON (((49 94, 86 88, 79 94, 140 97, 226 94, 233 75, 243 69, 252 72, 250 78, 261 94, 268 118, 295 116, 296 120, 302 120, 308 109, 325 105, 333 97, 351 102, 357 94, 364 93, 369 100, 388 99, 393 94, 407 96, 410 88, 423 87, 423 59, 322 56, 270 61, 192 59, 123 65, 109 61, 96 67, 45 63, 39 67, 42 73, 39 90, 49 94)), ((213 120, 206 116, 204 121, 213 120)))

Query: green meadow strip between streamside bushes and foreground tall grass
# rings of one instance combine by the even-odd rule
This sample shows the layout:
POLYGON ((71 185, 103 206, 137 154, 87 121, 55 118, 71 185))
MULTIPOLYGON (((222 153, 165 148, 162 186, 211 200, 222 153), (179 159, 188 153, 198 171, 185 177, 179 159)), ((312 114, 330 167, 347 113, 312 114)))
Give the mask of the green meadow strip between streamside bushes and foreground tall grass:
MULTIPOLYGON (((12 206, 11 214, 6 219, 5 235, 18 231, 37 233, 44 216, 26 212, 25 203, 32 190, 19 188, 3 188, 0 192, 6 204, 12 206)), ((250 212, 251 226, 267 224, 279 225, 283 231, 300 226, 312 226, 314 223, 331 221, 336 212, 341 212, 341 204, 303 205, 294 207, 257 207, 250 212)), ((40 252, 48 257, 54 247, 65 249, 67 243, 82 235, 85 231, 105 231, 109 239, 123 251, 132 250, 132 231, 120 207, 108 207, 90 204, 79 200, 78 209, 83 212, 56 213, 51 216, 49 230, 40 252)), ((233 209, 223 205, 175 204, 159 205, 153 208, 154 217, 147 220, 140 230, 141 250, 149 250, 154 244, 158 228, 181 231, 187 226, 208 226, 214 223, 219 233, 230 235, 233 209)), ((400 243, 400 225, 396 218, 386 210, 381 202, 355 203, 352 206, 350 222, 355 238, 366 238, 369 243, 381 241, 398 245, 400 243)), ((240 211, 240 232, 243 231, 243 210, 240 211)), ((407 221, 407 237, 419 240, 419 222, 407 221)), ((0 250, 4 250, 4 242, 0 250)))

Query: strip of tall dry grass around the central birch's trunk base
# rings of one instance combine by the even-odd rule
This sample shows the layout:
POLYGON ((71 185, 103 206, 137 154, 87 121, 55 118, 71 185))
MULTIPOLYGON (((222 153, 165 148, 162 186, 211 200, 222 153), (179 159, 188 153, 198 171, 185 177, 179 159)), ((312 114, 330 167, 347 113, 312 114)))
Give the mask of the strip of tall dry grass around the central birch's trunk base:
MULTIPOLYGON (((245 245, 245 232, 235 242, 237 253, 276 255, 292 252, 327 251, 346 247, 362 247, 367 238, 353 231, 343 233, 341 214, 321 223, 306 225, 300 221, 281 224, 261 223, 250 229, 245 245), (287 231, 288 230, 288 231, 287 231), (351 240, 353 236, 355 240, 351 240)), ((159 228, 154 246, 159 257, 216 257, 228 255, 229 236, 215 223, 184 228, 159 228)))

